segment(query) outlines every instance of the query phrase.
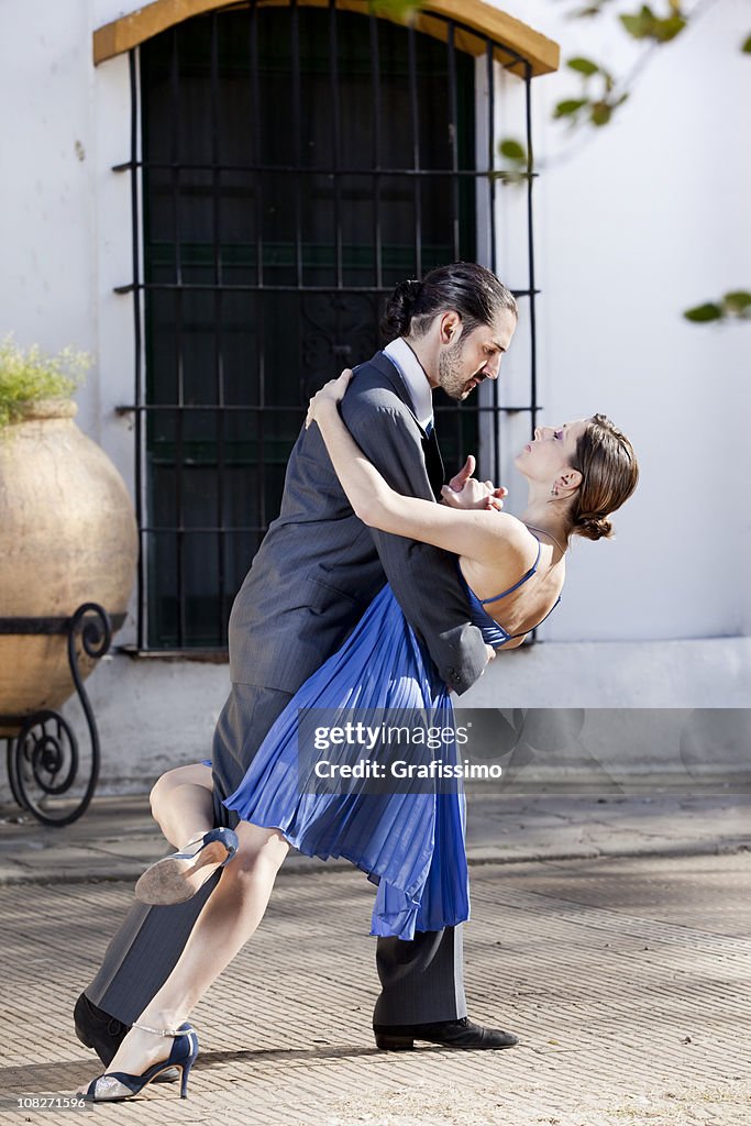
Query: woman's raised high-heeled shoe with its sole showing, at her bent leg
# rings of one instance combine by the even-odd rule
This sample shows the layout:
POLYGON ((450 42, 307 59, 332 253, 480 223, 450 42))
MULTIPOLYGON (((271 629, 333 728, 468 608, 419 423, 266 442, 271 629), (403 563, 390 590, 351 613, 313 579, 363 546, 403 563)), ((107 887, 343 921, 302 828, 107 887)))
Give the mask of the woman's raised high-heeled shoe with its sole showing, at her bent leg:
POLYGON ((203 837, 188 841, 179 852, 150 865, 135 885, 136 900, 158 906, 184 903, 200 891, 209 876, 230 863, 239 847, 238 834, 232 829, 211 829, 203 837), (189 877, 199 870, 202 878, 195 884, 189 877))

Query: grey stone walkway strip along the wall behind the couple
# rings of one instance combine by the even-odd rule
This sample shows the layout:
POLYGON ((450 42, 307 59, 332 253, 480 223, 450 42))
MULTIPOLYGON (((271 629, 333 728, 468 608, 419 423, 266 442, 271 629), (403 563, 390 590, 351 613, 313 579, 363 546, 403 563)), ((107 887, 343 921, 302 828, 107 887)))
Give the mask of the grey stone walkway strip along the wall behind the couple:
MULTIPOLYGON (((473 864, 601 856, 687 855, 751 849, 751 795, 513 795, 470 793, 473 864)), ((164 852, 145 796, 95 799, 72 825, 47 828, 0 808, 0 885, 79 879, 134 881, 164 852)), ((293 855, 283 875, 320 868, 293 855)), ((348 868, 329 861, 328 870, 348 868)))

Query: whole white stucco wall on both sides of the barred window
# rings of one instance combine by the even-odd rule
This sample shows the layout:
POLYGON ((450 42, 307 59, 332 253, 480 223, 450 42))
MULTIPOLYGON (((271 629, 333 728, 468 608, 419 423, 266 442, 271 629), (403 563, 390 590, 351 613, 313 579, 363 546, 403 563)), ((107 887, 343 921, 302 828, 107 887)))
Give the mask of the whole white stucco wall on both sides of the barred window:
MULTIPOLYGON (((80 422, 131 488, 132 423, 115 406, 133 397, 132 303, 113 293, 132 276, 129 180, 111 171, 129 155, 127 60, 95 70, 91 33, 135 7, 5 0, 12 35, 0 42, 0 91, 12 107, 0 120, 0 334, 96 355, 80 422)), ((592 54, 620 71, 632 55, 619 33, 594 46, 589 25, 562 20, 549 0, 502 7, 562 42, 564 59, 592 54)), ((540 631, 546 644, 495 661, 465 703, 745 706, 751 330, 696 328, 680 310, 751 283, 751 151, 734 109, 750 92, 736 51, 746 15, 740 0, 712 9, 575 155, 579 142, 548 118, 576 77, 534 82, 537 153, 549 164, 535 186, 539 399, 552 421, 611 414, 634 440, 643 482, 615 542, 576 544, 563 604, 540 631)), ((499 135, 518 132, 520 86, 507 78, 499 92, 499 135)), ((498 221, 506 279, 524 285, 524 208, 511 189, 499 190, 498 221)), ((522 324, 502 374, 507 402, 526 387, 525 333, 522 324)), ((507 448, 526 440, 525 426, 509 423, 507 448)), ((521 499, 512 488, 511 510, 521 499)), ((119 643, 134 640, 133 625, 132 615, 119 643)), ((209 753, 226 668, 116 655, 91 690, 102 786, 137 787, 209 753)))

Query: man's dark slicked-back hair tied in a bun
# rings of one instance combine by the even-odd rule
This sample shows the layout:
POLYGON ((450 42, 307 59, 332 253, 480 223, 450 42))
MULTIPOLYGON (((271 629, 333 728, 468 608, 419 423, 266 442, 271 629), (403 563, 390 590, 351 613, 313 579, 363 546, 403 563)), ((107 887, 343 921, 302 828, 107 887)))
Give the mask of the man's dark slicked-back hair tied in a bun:
POLYGON ((466 332, 492 324, 502 309, 519 315, 513 294, 491 270, 476 262, 452 262, 431 270, 422 282, 400 282, 381 322, 384 340, 421 337, 447 309, 456 310, 466 332))

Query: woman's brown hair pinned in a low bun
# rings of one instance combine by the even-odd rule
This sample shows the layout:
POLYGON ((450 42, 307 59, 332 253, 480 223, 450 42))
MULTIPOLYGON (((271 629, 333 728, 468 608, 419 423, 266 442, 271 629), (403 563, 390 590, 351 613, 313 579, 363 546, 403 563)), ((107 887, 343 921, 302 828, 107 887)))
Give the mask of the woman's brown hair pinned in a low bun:
POLYGON ((626 435, 605 414, 593 414, 576 443, 572 468, 582 481, 571 506, 571 533, 588 539, 613 535, 607 519, 628 500, 638 482, 638 464, 626 435))

